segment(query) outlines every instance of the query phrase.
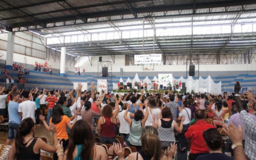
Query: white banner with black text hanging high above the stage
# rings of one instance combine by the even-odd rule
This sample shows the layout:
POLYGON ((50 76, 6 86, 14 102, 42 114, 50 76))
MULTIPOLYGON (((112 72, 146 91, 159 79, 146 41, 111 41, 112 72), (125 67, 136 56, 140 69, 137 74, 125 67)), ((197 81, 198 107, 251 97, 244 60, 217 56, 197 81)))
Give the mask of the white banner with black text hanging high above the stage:
POLYGON ((134 55, 134 64, 151 64, 162 62, 162 54, 140 54, 134 55))

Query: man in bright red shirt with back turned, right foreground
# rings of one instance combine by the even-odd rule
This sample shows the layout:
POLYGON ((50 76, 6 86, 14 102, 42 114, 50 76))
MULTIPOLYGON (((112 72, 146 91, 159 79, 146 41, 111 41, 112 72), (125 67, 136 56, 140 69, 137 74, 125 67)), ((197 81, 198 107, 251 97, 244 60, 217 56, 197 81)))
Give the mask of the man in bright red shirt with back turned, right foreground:
POLYGON ((215 128, 204 120, 204 111, 199 109, 195 112, 196 124, 191 125, 185 133, 187 140, 191 140, 189 160, 196 160, 198 156, 208 154, 209 149, 204 142, 203 132, 209 128, 215 128))

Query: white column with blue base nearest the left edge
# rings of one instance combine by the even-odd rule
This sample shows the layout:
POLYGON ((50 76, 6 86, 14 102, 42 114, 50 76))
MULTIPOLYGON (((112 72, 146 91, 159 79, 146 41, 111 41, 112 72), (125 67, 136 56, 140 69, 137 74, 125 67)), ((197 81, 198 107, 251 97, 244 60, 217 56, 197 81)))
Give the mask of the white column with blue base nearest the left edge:
POLYGON ((13 50, 14 50, 14 35, 15 33, 9 32, 7 39, 7 52, 6 52, 6 69, 12 69, 13 64, 13 50))

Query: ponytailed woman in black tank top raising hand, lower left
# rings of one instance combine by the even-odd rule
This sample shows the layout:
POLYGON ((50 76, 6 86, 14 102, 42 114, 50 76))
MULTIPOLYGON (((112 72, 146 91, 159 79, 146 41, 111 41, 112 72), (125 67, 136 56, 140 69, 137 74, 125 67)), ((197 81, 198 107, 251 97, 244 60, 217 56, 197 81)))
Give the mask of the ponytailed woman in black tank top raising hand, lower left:
POLYGON ((48 145, 41 139, 36 139, 33 135, 36 132, 35 122, 32 118, 25 118, 21 121, 17 128, 17 135, 12 144, 9 154, 9 160, 25 160, 33 159, 40 160, 40 150, 46 152, 56 152, 56 145, 58 144, 57 132, 54 125, 51 124, 50 131, 53 134, 53 146, 48 145))

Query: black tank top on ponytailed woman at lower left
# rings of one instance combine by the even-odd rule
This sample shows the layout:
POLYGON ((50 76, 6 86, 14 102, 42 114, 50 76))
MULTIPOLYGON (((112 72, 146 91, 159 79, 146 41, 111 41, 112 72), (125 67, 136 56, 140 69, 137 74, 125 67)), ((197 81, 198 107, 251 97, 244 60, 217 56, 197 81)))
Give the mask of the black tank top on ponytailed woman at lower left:
POLYGON ((40 160, 40 152, 35 154, 33 148, 36 144, 36 138, 32 140, 28 147, 22 147, 19 153, 16 153, 17 160, 40 160))

